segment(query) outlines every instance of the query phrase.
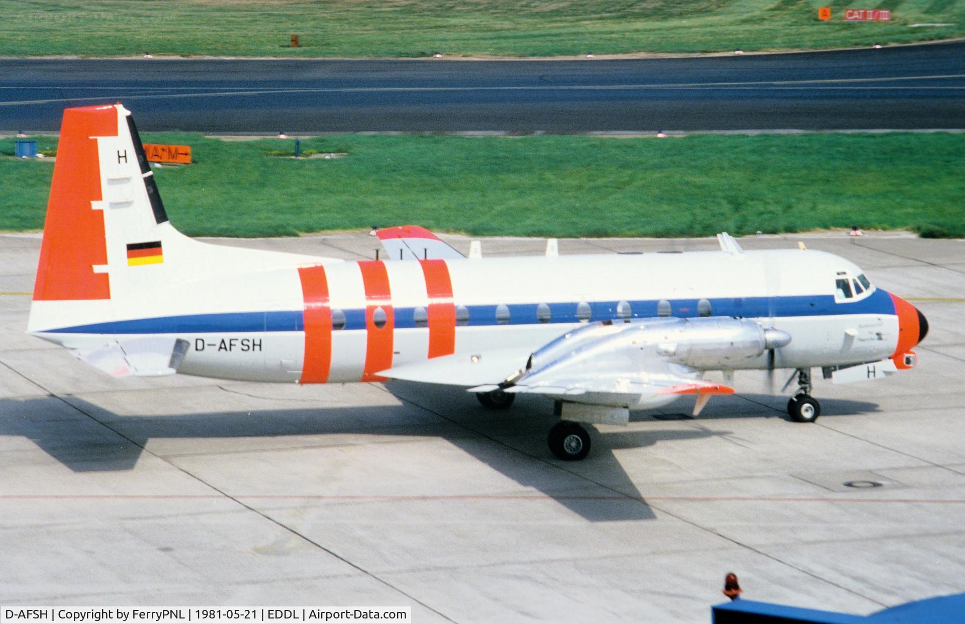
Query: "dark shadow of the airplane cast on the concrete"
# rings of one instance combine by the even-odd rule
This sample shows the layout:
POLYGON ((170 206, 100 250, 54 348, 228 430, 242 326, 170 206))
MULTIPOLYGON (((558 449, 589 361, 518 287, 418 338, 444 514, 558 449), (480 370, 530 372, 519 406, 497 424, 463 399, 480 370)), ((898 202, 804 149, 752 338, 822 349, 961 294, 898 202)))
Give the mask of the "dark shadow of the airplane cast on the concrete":
MULTIPOLYGON (((150 441, 159 439, 236 440, 346 434, 438 437, 521 486, 536 489, 591 522, 600 522, 655 518, 636 485, 623 471, 614 450, 727 436, 729 431, 712 430, 703 426, 702 421, 763 416, 758 410, 756 414, 742 417, 734 410, 740 404, 732 403, 728 409, 725 402, 720 401, 717 409, 708 408, 706 417, 693 419, 694 426, 685 429, 592 430, 590 457, 583 462, 568 463, 554 459, 545 446, 546 432, 556 419, 552 410, 547 409, 548 402, 538 397, 523 397, 515 408, 494 413, 459 391, 433 387, 427 390, 400 383, 386 386, 400 398, 400 405, 129 416, 115 414, 72 395, 0 399, 0 436, 29 439, 76 473, 132 470, 150 441), (413 392, 418 393, 417 400, 413 400, 413 392), (75 409, 69 410, 65 401, 75 409), (417 409, 413 410, 412 405, 417 409)), ((780 396, 745 397, 768 406, 786 400, 780 396)), ((822 405, 825 412, 822 418, 877 411, 877 405, 866 401, 824 399, 822 405)), ((631 421, 636 422, 648 420, 691 419, 684 416, 683 410, 679 413, 635 412, 631 417, 631 421)), ((788 426, 807 425, 788 423, 788 426)), ((306 443, 306 446, 324 446, 324 442, 306 443)), ((252 445, 245 449, 260 448, 264 447, 252 445)))

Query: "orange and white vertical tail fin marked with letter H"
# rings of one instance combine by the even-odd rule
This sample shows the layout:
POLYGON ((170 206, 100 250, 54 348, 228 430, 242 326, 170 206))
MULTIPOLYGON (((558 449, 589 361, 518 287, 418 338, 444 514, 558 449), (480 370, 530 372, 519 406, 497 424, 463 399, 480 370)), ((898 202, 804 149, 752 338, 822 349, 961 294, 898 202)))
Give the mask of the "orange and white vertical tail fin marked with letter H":
POLYGON ((167 221, 130 113, 121 104, 67 109, 34 301, 110 299, 111 260, 161 261, 163 239, 180 236, 161 228, 167 221))

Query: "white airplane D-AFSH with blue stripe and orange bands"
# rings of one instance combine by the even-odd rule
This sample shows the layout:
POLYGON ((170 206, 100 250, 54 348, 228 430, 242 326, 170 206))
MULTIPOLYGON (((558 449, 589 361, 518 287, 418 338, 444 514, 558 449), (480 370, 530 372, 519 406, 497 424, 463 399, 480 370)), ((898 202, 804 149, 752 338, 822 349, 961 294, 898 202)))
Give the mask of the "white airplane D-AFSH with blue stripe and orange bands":
MULTIPOLYGON (((226 209, 226 218, 230 218, 226 209)), ((699 415, 734 371, 792 369, 813 422, 813 368, 835 383, 917 364, 922 312, 854 263, 805 249, 468 258, 431 232, 376 231, 384 259, 207 244, 168 220, 120 103, 67 109, 28 333, 115 376, 176 372, 300 384, 449 384, 490 409, 554 401, 549 448, 580 460, 585 425, 684 395, 699 415), (721 371, 723 383, 707 381, 721 371)), ((784 392, 784 390, 782 392, 784 392)))

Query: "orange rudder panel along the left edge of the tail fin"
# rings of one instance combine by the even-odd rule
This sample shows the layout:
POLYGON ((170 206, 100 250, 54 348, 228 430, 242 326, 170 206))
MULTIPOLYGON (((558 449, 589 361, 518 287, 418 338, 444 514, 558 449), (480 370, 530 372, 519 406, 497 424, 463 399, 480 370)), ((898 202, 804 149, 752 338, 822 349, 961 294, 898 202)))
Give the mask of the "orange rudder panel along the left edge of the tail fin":
POLYGON ((107 243, 103 212, 91 205, 101 200, 97 141, 91 137, 117 134, 118 111, 113 106, 64 111, 35 301, 111 298, 108 274, 94 272, 95 264, 107 264, 107 243))

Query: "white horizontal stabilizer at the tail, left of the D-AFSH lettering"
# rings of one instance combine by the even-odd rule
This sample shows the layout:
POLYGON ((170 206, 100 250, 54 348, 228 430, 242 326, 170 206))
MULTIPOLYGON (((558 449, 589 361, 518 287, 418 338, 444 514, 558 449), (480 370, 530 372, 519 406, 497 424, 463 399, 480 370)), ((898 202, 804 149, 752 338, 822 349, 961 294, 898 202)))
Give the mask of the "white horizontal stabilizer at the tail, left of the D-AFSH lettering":
POLYGON ((70 353, 113 377, 158 377, 178 372, 187 347, 187 340, 166 337, 109 339, 70 353))

